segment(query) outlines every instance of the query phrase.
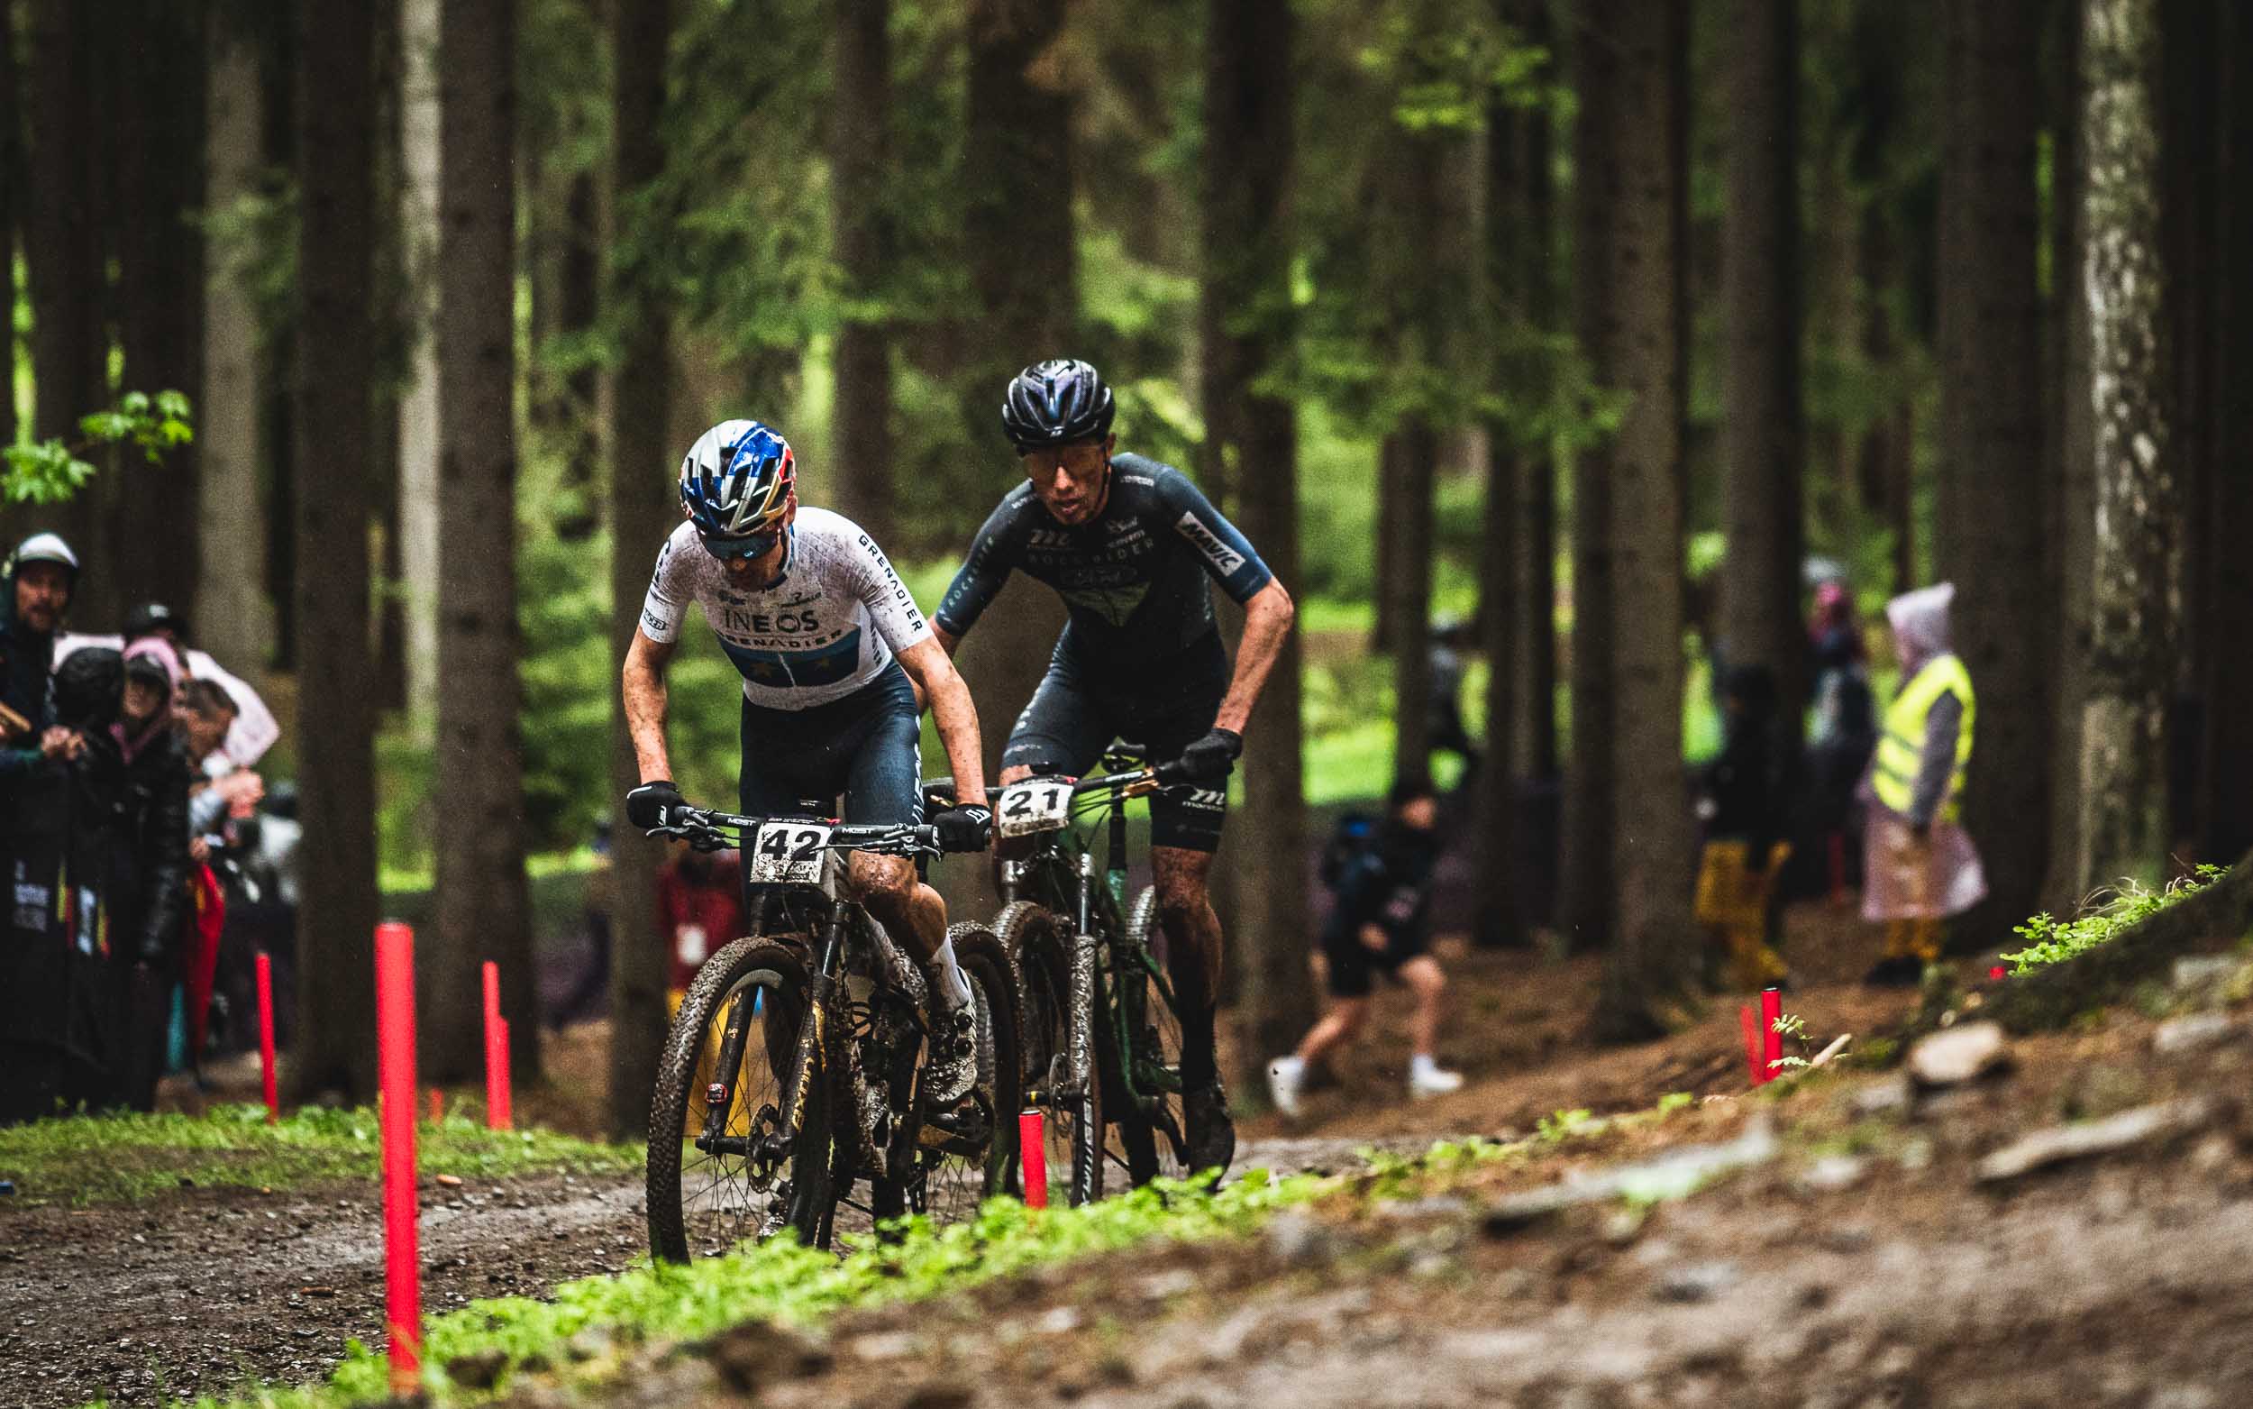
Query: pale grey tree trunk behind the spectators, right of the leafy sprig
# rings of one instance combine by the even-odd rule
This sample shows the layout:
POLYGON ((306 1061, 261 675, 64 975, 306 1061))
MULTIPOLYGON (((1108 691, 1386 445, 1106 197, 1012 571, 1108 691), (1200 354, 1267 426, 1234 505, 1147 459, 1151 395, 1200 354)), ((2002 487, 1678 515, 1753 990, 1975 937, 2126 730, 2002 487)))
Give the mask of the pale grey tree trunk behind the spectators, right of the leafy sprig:
MULTIPOLYGON (((223 14, 210 18, 207 54, 203 205, 223 212, 259 189, 264 90, 255 36, 223 14)), ((261 489, 266 365, 243 264, 243 250, 205 241, 203 386, 194 392, 203 573, 194 622, 203 649, 257 683, 273 649, 275 613, 266 597, 261 489)))

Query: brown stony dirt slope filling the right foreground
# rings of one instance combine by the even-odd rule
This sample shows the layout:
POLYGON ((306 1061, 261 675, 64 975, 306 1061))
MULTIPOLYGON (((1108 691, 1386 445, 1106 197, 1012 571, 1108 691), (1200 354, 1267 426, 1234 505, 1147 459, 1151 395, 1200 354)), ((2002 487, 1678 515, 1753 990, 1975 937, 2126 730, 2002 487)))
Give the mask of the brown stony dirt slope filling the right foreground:
POLYGON ((1906 1105, 1893 1080, 1715 1100, 1437 1193, 1286 1213, 1250 1249, 1122 1253, 852 1314, 795 1350, 743 1326, 649 1348, 608 1393, 527 1382, 509 1404, 2253 1404, 2253 1127, 2235 1098, 2253 1021, 2167 1055, 2152 1035, 2014 1044, 2014 1075, 1906 1105), (2066 1116, 2152 1109, 2179 1118, 2102 1157, 1978 1172, 2066 1116), (1685 1145, 1762 1154, 1647 1208, 1523 1204, 1685 1145))

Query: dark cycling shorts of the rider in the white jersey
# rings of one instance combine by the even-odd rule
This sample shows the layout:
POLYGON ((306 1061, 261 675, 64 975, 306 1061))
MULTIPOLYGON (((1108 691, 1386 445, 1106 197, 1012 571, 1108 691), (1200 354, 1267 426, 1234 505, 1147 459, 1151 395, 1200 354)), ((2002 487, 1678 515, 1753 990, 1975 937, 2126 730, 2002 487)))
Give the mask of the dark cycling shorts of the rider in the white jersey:
POLYGON ((863 827, 921 825, 924 755, 915 688, 899 661, 811 710, 743 701, 741 803, 750 816, 840 816, 863 827), (834 814, 838 794, 845 809, 834 814))

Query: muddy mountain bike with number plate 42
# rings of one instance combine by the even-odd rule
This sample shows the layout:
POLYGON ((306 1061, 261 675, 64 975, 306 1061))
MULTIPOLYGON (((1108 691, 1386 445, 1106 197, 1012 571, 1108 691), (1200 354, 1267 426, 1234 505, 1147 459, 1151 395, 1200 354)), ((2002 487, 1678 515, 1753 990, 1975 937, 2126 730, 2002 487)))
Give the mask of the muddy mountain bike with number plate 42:
POLYGON ((949 929, 971 985, 978 1080, 930 1109, 921 967, 843 893, 843 852, 921 863, 937 832, 685 807, 651 836, 739 848, 753 895, 748 933, 703 963, 665 1039, 649 1107, 651 1253, 685 1262, 784 1229, 831 1247, 840 1206, 872 1224, 946 1222, 1000 1193, 1023 1071, 1009 954, 982 924, 949 929))

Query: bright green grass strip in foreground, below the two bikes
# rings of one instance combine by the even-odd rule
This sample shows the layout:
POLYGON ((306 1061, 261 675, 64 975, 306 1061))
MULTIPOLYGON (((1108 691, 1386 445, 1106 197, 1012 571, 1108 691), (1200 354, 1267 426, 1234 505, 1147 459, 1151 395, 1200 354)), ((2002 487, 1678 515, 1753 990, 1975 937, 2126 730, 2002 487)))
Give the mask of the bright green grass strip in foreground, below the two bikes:
MULTIPOLYGON (((455 1386, 444 1366, 464 1355, 500 1353, 516 1366, 570 1364, 568 1375, 599 1380, 620 1373, 624 1355, 647 1341, 685 1341, 746 1319, 811 1326, 836 1312, 924 1301, 1016 1271, 1066 1262, 1138 1242, 1203 1242, 1250 1233, 1277 1208, 1302 1204, 1336 1181, 1311 1175, 1273 1179, 1253 1170, 1221 1193, 1160 1184, 1084 1208, 1032 1213, 1016 1199, 994 1199, 962 1224, 933 1229, 906 1220, 897 1242, 865 1240, 836 1253, 777 1240, 743 1247, 689 1267, 635 1267, 556 1287, 552 1301, 502 1296, 435 1317, 424 1337, 424 1389, 433 1402, 469 1402, 484 1393, 455 1386), (586 1359, 566 1353, 572 1337, 586 1359), (599 1346, 599 1350, 595 1346, 599 1346)), ((390 1364, 351 1341, 327 1384, 252 1391, 239 1400, 198 1398, 196 1409, 340 1409, 388 1393, 390 1364)), ((498 1391, 507 1391, 507 1375, 498 1391)))

